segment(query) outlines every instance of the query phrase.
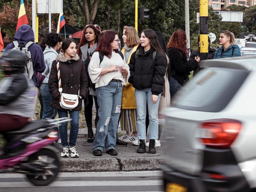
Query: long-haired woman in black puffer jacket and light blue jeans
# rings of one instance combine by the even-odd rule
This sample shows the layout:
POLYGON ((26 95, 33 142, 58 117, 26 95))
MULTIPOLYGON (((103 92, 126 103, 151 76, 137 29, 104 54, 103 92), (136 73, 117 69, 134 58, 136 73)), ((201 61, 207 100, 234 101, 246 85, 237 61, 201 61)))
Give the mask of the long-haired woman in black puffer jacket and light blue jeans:
POLYGON ((129 83, 135 88, 137 107, 136 126, 140 146, 137 153, 145 153, 146 104, 148 103, 150 141, 149 153, 156 153, 155 139, 158 139, 158 105, 164 86, 167 58, 156 34, 147 29, 141 33, 140 46, 130 59, 129 83))

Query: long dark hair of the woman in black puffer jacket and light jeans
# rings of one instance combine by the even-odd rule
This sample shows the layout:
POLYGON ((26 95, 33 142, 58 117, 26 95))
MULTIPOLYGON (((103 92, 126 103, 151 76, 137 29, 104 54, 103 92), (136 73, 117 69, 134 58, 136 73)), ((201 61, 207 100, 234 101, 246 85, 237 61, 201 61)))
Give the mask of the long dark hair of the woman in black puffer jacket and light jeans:
POLYGON ((162 56, 165 58, 165 60, 167 62, 166 54, 162 50, 161 45, 157 39, 157 36, 156 36, 156 33, 154 32, 154 30, 146 29, 146 30, 143 30, 141 33, 144 33, 146 38, 148 38, 150 40, 150 46, 152 46, 157 52, 160 52, 160 54, 162 54, 162 56))

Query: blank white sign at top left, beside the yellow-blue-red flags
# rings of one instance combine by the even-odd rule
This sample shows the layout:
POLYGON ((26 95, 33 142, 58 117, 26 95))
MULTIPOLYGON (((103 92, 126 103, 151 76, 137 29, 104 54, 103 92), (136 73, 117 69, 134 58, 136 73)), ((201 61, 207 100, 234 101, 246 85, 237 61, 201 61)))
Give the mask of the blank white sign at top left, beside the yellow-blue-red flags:
MULTIPOLYGON (((37 0, 37 13, 48 13, 48 0, 37 0)), ((63 0, 51 0, 51 13, 63 13, 63 0)))

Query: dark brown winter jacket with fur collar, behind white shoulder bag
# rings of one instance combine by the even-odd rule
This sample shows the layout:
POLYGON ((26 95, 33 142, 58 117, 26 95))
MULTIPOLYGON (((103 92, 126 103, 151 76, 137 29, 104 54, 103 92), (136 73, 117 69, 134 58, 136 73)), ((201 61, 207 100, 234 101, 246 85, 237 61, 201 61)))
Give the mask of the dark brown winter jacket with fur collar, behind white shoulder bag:
MULTIPOLYGON (((77 54, 71 60, 67 60, 67 58, 64 57, 63 53, 60 53, 57 56, 57 60, 60 62, 62 93, 78 94, 80 85, 79 95, 82 97, 82 99, 86 98, 88 92, 88 79, 84 62, 79 59, 77 54)), ((64 109, 60 106, 60 92, 58 87, 56 60, 52 62, 48 85, 50 94, 52 95, 51 106, 53 108, 63 111, 80 111, 82 109, 81 98, 79 98, 78 106, 76 106, 76 108, 72 110, 64 109)))

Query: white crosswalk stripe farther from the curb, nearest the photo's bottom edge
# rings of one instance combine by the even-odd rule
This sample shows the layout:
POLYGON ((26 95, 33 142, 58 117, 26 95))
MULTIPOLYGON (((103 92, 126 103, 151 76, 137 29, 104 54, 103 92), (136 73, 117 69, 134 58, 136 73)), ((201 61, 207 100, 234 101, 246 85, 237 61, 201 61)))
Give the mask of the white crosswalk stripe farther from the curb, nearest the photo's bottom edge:
MULTIPOLYGON (((65 187, 65 186, 152 186, 163 185, 162 180, 140 180, 140 181, 56 181, 48 187, 65 187)), ((2 187, 34 187, 29 182, 0 182, 2 187)))

